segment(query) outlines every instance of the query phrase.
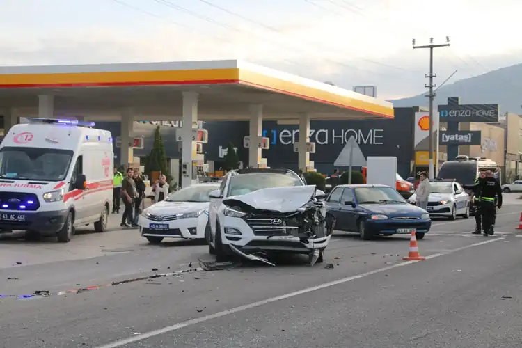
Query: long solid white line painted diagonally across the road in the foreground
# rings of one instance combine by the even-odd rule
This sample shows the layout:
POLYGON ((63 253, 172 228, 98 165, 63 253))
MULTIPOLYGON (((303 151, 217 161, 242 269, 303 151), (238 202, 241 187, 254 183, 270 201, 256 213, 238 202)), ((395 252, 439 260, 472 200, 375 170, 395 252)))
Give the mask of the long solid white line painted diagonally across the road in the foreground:
MULTIPOLYGON (((504 239, 504 238, 488 239, 487 241, 484 241, 484 242, 470 244, 470 245, 462 246, 461 248, 456 248, 456 249, 453 249, 453 250, 450 250, 450 251, 444 251, 444 252, 441 252, 441 253, 428 255, 428 256, 426 256, 426 260, 433 259, 433 258, 438 258, 440 256, 448 255, 450 253, 456 253, 458 251, 463 251, 463 250, 468 249, 468 248, 473 248, 474 246, 481 246, 481 245, 488 244, 488 243, 491 243, 491 242, 497 242, 497 241, 502 240, 502 239, 504 239)), ((180 323, 177 323, 177 324, 173 324, 171 326, 166 326, 163 329, 157 329, 157 330, 149 331, 148 333, 142 333, 141 335, 136 335, 134 337, 129 337, 129 338, 125 338, 123 340, 118 340, 116 342, 108 343, 106 345, 101 345, 101 346, 99 346, 97 348, 122 347, 124 345, 128 345, 129 343, 139 342, 141 340, 145 340, 147 338, 155 337, 157 335, 162 335, 164 333, 169 333, 169 332, 172 332, 172 331, 183 329, 183 328, 185 328, 187 326, 200 324, 200 323, 203 323, 203 322, 208 322, 209 320, 212 320, 212 319, 217 319, 217 318, 220 318, 220 317, 225 317, 226 315, 230 315, 230 314, 234 314, 234 313, 238 313, 238 312, 243 312, 244 310, 249 310, 251 308, 264 306, 265 304, 268 304, 268 303, 281 301, 281 300, 284 300, 284 299, 290 299, 292 297, 299 296, 299 295, 302 295, 302 294, 308 294, 309 292, 315 292, 317 290, 326 289, 327 287, 333 287, 334 285, 349 283, 349 282, 351 282, 353 280, 357 280, 357 279, 360 279, 360 278, 365 278, 367 276, 372 276, 373 274, 378 274, 378 273, 381 273, 381 272, 384 272, 384 271, 389 271, 390 269, 395 269, 395 268, 398 268, 398 267, 406 266, 407 264, 412 264, 412 263, 415 263, 415 262, 418 262, 418 261, 401 262, 401 263, 398 263, 398 264, 393 264, 393 265, 388 266, 388 267, 375 269, 374 271, 369 271, 369 272, 365 272, 365 273, 362 273, 362 274, 358 274, 356 276, 350 276, 350 277, 347 277, 347 278, 333 280, 333 281, 331 281, 329 283, 324 283, 322 285, 316 285, 316 286, 313 286, 313 287, 307 287, 306 289, 298 290, 298 291, 295 291, 295 292, 290 292, 288 294, 284 294, 284 295, 280 295, 280 296, 276 296, 276 297, 271 297, 270 299, 264 299, 262 301, 249 303, 249 304, 246 304, 244 306, 239 306, 239 307, 232 308, 232 309, 229 309, 229 310, 223 310, 223 311, 218 312, 218 313, 205 315, 204 317, 190 319, 190 320, 187 320, 186 322, 180 322, 180 323)))

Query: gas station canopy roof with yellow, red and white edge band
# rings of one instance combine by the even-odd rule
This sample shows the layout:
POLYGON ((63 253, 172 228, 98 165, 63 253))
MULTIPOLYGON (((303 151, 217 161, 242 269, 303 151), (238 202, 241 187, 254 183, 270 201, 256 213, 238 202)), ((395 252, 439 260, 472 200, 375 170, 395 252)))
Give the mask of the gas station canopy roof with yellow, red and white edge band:
POLYGON ((0 109, 38 114, 38 95, 53 95, 57 116, 120 120, 182 118, 182 92, 198 93, 198 120, 393 118, 393 104, 329 84, 241 61, 0 67, 0 109))

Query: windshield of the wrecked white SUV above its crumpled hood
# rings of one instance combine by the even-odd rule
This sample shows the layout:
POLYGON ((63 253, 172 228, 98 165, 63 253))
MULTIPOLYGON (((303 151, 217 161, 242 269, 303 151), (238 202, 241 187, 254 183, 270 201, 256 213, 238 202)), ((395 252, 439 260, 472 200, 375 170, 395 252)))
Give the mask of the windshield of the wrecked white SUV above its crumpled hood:
POLYGON ((303 186, 297 175, 279 173, 249 173, 232 175, 227 196, 241 196, 269 187, 303 186))

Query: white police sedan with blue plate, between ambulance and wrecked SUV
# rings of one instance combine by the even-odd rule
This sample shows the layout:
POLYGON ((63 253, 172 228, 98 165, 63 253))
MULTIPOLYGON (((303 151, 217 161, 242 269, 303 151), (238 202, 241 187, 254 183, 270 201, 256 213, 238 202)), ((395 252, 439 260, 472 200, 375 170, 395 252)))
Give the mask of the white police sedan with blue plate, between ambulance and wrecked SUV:
POLYGON ((143 210, 140 233, 150 243, 164 238, 204 239, 208 221, 209 193, 219 184, 193 184, 168 195, 143 210))

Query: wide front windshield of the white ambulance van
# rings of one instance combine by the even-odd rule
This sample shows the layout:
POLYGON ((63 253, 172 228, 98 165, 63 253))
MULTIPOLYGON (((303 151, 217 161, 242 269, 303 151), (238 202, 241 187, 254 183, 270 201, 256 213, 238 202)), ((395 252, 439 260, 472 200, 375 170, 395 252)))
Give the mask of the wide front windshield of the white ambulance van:
POLYGON ((0 178, 61 181, 72 155, 71 150, 6 146, 0 149, 0 178))

